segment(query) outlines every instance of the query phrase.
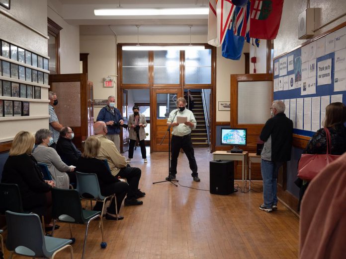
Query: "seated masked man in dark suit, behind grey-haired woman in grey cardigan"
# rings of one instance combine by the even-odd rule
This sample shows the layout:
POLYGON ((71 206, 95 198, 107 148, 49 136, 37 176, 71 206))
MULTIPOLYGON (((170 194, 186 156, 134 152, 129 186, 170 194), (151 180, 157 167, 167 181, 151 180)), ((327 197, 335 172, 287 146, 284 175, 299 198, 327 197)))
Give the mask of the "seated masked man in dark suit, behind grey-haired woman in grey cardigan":
POLYGON ((76 165, 78 158, 82 152, 72 142, 75 133, 70 127, 63 127, 60 130, 60 136, 57 142, 56 150, 61 157, 61 160, 68 166, 76 165))

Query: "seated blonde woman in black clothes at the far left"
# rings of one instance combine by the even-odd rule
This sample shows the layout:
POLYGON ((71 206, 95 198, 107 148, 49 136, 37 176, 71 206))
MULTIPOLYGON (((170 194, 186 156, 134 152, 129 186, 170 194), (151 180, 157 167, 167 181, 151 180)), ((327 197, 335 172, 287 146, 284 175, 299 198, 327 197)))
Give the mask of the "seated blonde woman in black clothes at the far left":
MULTIPOLYGON (((18 132, 9 150, 9 156, 3 166, 1 183, 17 184, 20 190, 24 211, 44 216, 46 230, 52 219, 53 181, 43 180, 36 159, 31 155, 35 137, 27 131, 18 132)), ((49 229, 50 228, 50 229, 49 229)))

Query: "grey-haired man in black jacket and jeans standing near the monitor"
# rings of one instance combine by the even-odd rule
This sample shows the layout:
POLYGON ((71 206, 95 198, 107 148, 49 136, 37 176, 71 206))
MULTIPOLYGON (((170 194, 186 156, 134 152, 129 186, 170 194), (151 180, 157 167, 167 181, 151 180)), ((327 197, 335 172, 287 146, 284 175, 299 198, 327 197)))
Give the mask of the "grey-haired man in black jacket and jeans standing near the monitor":
POLYGON ((291 160, 293 122, 286 117, 283 101, 274 101, 270 108, 271 117, 260 132, 264 141, 260 154, 260 169, 263 179, 263 200, 260 210, 277 210, 277 172, 282 164, 291 160))

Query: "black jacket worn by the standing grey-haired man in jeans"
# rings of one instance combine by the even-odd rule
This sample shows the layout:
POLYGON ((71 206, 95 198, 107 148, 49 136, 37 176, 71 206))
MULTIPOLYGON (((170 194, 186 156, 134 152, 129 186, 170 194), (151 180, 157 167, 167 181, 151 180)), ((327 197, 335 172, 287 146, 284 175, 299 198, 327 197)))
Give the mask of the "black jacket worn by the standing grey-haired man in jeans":
POLYGON ((265 142, 261 153, 262 158, 263 152, 266 151, 270 159, 263 158, 264 160, 273 162, 291 160, 292 131, 293 122, 284 113, 278 113, 270 118, 259 135, 259 138, 265 142))

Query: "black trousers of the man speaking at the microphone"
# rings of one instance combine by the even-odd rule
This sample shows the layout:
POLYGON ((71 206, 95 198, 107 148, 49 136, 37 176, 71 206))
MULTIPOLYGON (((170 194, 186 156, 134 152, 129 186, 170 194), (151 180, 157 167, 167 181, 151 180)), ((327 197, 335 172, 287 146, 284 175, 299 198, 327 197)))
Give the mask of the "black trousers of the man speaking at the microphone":
POLYGON ((191 176, 195 177, 198 176, 197 173, 197 163, 196 159, 194 158, 194 150, 191 142, 191 134, 187 134, 185 136, 172 136, 171 141, 171 168, 170 172, 171 175, 176 175, 176 165, 178 162, 178 156, 180 148, 184 151, 187 159, 188 164, 190 166, 190 169, 192 171, 191 176))

